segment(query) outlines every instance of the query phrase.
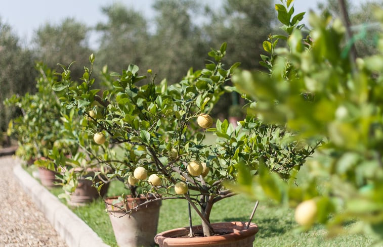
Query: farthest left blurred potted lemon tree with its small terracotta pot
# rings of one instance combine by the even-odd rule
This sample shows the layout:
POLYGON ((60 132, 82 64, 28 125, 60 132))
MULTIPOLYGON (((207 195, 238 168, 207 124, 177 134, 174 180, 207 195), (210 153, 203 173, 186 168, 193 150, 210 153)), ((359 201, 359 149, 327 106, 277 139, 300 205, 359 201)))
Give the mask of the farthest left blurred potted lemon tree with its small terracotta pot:
POLYGON ((60 104, 51 89, 56 80, 54 72, 42 64, 37 64, 36 69, 39 72, 37 92, 13 95, 5 101, 6 106, 15 106, 21 112, 19 117, 10 121, 8 134, 18 141, 16 155, 29 164, 34 162, 39 167, 41 183, 52 187, 56 181, 54 163, 47 158, 50 150, 58 144, 60 104))

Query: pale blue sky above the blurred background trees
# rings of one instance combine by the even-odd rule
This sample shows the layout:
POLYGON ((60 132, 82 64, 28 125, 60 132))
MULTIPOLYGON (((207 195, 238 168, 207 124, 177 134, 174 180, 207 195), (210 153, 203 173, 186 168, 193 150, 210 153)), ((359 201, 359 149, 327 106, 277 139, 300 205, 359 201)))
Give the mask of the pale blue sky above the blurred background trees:
MULTIPOLYGON (((294 0, 295 13, 315 10, 317 3, 323 1, 294 0)), ((366 1, 351 0, 355 5, 366 1)), ((67 17, 73 17, 88 26, 95 26, 98 22, 106 21, 106 17, 101 13, 101 7, 114 2, 123 3, 126 7, 143 13, 149 20, 155 14, 151 9, 154 0, 0 0, 0 20, 2 23, 9 24, 20 38, 21 43, 27 45, 33 31, 46 23, 60 24, 67 17)), ((203 2, 209 3, 209 6, 214 4, 221 6, 222 4, 222 0, 203 2)), ((304 19, 304 22, 306 20, 304 19)), ((91 45, 95 45, 95 39, 94 36, 90 38, 91 45)))

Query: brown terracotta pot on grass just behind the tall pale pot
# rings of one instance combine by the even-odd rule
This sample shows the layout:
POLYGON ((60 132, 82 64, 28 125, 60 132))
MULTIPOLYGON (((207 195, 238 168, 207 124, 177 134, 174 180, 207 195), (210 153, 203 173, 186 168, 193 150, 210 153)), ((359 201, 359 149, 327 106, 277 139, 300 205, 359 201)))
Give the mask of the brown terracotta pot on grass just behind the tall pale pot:
MULTIPOLYGON (((69 205, 72 206, 84 206, 87 203, 92 202, 93 200, 99 197, 99 193, 95 187, 93 187, 93 181, 86 179, 86 177, 93 177, 94 173, 88 173, 87 176, 83 176, 78 179, 78 185, 73 193, 69 195, 70 201, 69 205)), ((101 180, 98 177, 95 178, 95 182, 100 182, 101 180)), ((105 183, 100 190, 102 197, 106 194, 109 188, 109 183, 105 183)))

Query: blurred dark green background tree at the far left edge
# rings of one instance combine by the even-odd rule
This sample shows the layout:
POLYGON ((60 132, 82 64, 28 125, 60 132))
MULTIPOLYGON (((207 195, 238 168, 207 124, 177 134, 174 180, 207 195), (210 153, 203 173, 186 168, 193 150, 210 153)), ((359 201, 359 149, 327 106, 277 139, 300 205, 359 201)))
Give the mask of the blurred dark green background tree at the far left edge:
MULTIPOLYGON (((3 101, 14 93, 24 94, 34 88, 36 76, 30 50, 20 45, 11 27, 0 20, 0 132, 6 131, 15 109, 5 108, 3 101)), ((2 139, 2 138, 0 138, 2 139)), ((1 145, 2 143, 0 143, 1 145)))

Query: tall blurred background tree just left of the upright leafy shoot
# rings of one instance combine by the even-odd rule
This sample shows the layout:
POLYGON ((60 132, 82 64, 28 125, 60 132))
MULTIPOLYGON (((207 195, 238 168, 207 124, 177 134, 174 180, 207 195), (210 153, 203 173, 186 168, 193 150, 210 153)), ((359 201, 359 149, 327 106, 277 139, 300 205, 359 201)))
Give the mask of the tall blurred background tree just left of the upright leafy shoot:
MULTIPOLYGON (((218 11, 207 6, 206 15, 211 18, 203 27, 209 46, 217 47, 223 41, 227 42, 225 62, 240 62, 244 69, 260 68, 262 42, 272 32, 272 20, 275 19, 273 1, 226 0, 218 11)), ((227 118, 228 112, 223 109, 229 109, 238 100, 236 93, 222 97, 212 114, 220 113, 222 118, 227 118)))

